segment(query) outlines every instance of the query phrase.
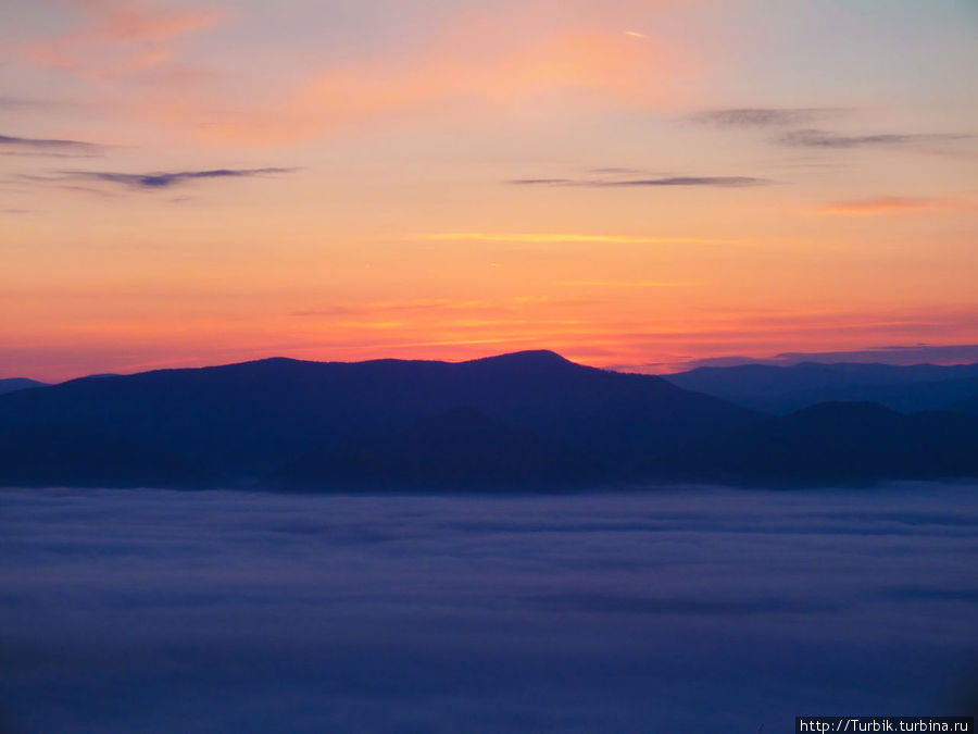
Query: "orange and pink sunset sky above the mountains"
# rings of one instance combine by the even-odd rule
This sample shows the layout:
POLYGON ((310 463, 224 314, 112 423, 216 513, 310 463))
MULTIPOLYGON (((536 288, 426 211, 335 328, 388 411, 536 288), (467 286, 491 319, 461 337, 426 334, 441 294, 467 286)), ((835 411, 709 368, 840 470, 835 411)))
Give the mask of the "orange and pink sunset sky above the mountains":
POLYGON ((978 3, 2 0, 0 313, 48 381, 978 361, 978 3))

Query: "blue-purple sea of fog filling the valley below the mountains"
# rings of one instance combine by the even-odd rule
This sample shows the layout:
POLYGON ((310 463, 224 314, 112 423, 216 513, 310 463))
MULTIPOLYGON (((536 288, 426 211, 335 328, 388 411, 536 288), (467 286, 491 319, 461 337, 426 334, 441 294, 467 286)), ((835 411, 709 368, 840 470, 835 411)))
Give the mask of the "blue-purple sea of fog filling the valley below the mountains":
POLYGON ((965 712, 976 551, 975 485, 2 489, 0 731, 753 734, 965 712))

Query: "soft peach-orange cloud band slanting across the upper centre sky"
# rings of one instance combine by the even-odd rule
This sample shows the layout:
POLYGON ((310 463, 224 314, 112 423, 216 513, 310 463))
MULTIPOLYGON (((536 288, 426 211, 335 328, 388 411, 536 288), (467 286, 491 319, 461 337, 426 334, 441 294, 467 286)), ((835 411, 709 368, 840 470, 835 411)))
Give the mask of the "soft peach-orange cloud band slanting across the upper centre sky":
POLYGON ((279 142, 389 115, 505 110, 542 96, 651 108, 676 94, 674 55, 624 32, 562 29, 500 49, 469 43, 466 30, 413 58, 323 70, 272 109, 214 111, 201 134, 279 142))

